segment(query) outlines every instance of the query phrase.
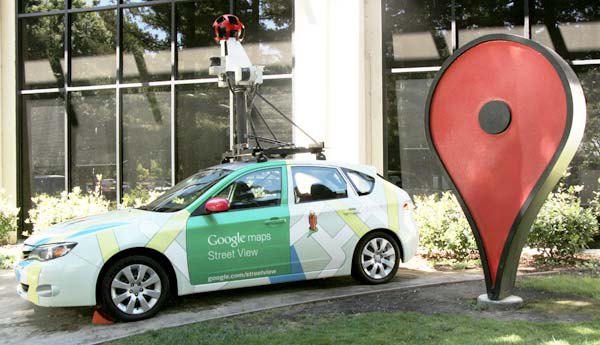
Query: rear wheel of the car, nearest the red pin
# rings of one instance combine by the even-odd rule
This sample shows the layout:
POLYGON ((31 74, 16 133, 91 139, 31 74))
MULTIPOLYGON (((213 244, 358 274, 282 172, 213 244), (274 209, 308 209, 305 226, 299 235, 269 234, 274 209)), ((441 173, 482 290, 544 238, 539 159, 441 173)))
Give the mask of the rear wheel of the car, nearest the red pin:
POLYGON ((360 239, 352 258, 352 277, 366 284, 383 284, 394 278, 400 264, 396 239, 382 231, 372 231, 360 239))

